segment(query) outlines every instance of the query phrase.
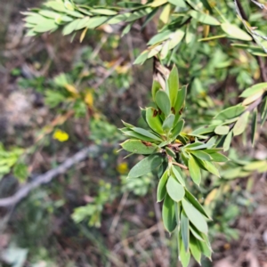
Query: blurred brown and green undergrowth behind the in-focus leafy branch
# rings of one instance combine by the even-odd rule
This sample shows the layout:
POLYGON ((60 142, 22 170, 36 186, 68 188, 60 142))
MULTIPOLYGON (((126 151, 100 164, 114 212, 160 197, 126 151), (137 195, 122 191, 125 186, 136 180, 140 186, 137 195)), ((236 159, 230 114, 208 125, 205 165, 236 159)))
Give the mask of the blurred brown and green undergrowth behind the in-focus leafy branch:
MULTIPOLYGON (((119 27, 88 30, 82 44, 59 32, 25 37, 20 12, 40 4, 4 0, 0 6, 0 198, 79 150, 89 148, 89 158, 14 208, 0 209, 0 266, 178 266, 176 240, 166 235, 156 204, 155 177, 127 181, 136 157, 117 153, 121 119, 142 125, 139 107, 150 102, 152 61, 132 63, 146 47, 146 31, 156 31, 153 20, 145 32, 137 23, 124 37, 119 27)), ((250 21, 266 32, 266 13, 251 13, 250 21)), ((190 84, 189 132, 238 103, 239 93, 260 78, 249 53, 222 40, 194 44, 182 44, 172 58, 182 84, 190 84)), ((231 170, 225 167, 220 181, 206 177, 200 188, 214 218, 214 261, 203 266, 267 266, 266 174, 255 172, 266 166, 266 133, 263 125, 255 149, 246 134, 235 138, 231 170), (251 159, 260 166, 246 169, 251 159)))

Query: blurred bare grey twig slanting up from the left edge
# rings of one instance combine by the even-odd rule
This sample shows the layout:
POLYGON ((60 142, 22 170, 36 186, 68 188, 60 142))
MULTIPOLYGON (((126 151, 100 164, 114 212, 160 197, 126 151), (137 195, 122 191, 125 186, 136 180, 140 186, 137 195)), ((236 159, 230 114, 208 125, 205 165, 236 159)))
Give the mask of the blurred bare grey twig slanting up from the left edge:
POLYGON ((20 188, 12 197, 0 198, 0 206, 15 206, 20 202, 21 199, 26 198, 28 194, 39 187, 41 184, 51 182, 53 178, 57 177, 59 174, 65 174, 71 166, 85 160, 89 153, 97 153, 98 148, 95 145, 91 145, 83 150, 78 151, 74 156, 68 158, 60 166, 41 174, 36 177, 33 182, 28 182, 20 188))

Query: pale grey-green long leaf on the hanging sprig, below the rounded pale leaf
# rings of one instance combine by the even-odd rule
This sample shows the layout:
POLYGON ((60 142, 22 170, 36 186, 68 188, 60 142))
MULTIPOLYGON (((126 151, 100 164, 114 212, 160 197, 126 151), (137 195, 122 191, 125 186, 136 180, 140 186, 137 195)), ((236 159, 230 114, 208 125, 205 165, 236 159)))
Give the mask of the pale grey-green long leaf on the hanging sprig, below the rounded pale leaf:
POLYGON ((198 209, 192 206, 191 203, 184 198, 182 199, 182 207, 190 222, 195 225, 198 231, 207 233, 206 221, 203 215, 198 212, 198 209))

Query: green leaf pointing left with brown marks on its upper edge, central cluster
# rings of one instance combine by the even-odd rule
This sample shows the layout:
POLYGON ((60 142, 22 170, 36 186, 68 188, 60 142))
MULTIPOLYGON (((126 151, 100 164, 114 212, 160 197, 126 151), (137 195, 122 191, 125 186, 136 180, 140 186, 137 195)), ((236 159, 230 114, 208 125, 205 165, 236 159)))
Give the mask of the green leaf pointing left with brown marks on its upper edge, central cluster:
POLYGON ((155 153, 158 146, 151 142, 144 142, 140 140, 126 140, 120 144, 124 150, 133 152, 135 154, 149 155, 155 153))

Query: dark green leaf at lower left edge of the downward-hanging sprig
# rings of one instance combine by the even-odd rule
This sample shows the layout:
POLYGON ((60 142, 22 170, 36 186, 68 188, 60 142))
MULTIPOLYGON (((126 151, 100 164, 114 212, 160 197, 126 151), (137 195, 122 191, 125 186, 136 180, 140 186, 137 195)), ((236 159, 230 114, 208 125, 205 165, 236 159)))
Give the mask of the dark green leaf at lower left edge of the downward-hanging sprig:
POLYGON ((176 219, 175 219, 175 205, 174 200, 166 194, 166 197, 162 206, 162 220, 166 228, 166 231, 173 232, 176 228, 176 219))

